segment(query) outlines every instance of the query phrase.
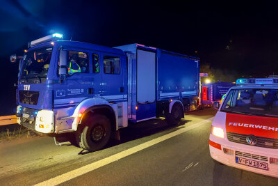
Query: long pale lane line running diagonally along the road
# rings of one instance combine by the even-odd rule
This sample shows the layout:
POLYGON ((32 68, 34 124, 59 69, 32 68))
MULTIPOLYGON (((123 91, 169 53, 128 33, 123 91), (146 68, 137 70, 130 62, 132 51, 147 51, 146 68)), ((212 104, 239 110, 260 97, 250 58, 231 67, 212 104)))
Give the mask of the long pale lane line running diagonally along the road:
POLYGON ((169 134, 165 134, 162 137, 158 137, 156 139, 152 139, 152 140, 147 141, 147 142, 145 142, 143 144, 140 144, 138 146, 134 146, 133 148, 129 148, 127 150, 124 150, 124 151, 122 151, 120 153, 117 153, 115 155, 111 155, 111 156, 106 157, 106 158, 104 158, 102 160, 99 160, 97 162, 93 162, 91 164, 82 166, 79 169, 75 169, 73 171, 69 171, 67 173, 63 173, 60 176, 56 176, 56 177, 51 178, 49 180, 45 180, 44 182, 38 183, 37 185, 58 185, 58 184, 64 183, 64 182, 66 182, 68 180, 71 180, 71 179, 76 178, 78 176, 81 176, 81 175, 83 175, 85 173, 88 173, 90 171, 98 169, 101 166, 105 166, 106 164, 111 164, 112 162, 120 160, 120 159, 122 159, 122 158, 124 158, 126 156, 129 156, 129 155, 132 155, 134 153, 137 153, 140 150, 143 150, 143 149, 148 148, 150 146, 154 146, 155 144, 158 144, 161 141, 165 141, 166 139, 170 139, 172 137, 175 137, 175 136, 177 136, 179 134, 182 134, 183 132, 187 132, 188 130, 192 130, 192 129, 196 128, 196 127, 204 125, 205 123, 208 123, 209 121, 212 121, 213 118, 214 117, 208 118, 207 120, 201 121, 199 123, 195 123, 194 125, 191 125, 189 127, 181 128, 180 130, 176 130, 176 131, 171 132, 169 134))

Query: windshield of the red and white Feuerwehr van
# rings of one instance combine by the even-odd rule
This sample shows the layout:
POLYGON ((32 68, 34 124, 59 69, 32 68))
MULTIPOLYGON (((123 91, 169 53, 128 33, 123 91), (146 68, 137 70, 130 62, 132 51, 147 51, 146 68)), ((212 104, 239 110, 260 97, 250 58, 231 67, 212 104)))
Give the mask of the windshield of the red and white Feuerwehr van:
POLYGON ((278 116, 278 89, 233 89, 227 95, 221 111, 263 116, 278 116))

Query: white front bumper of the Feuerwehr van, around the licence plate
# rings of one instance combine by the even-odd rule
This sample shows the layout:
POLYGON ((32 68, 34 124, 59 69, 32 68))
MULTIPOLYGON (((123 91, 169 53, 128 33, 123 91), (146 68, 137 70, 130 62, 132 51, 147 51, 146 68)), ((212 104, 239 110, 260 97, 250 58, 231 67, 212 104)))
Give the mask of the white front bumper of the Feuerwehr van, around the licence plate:
MULTIPOLYGON (((211 153, 211 157, 221 162, 222 164, 226 164, 228 166, 234 166, 238 169, 243 169, 246 171, 252 171, 254 173, 261 173, 266 176, 272 176, 278 178, 278 164, 270 164, 270 157, 272 158, 278 158, 277 153, 265 153, 267 150, 246 150, 246 148, 242 148, 240 145, 240 148, 237 148, 236 145, 231 146, 231 142, 227 141, 227 139, 219 139, 218 137, 215 137, 211 134, 210 140, 214 143, 221 145, 221 150, 218 148, 215 148, 213 146, 209 146, 209 150, 211 153), (227 141, 227 143, 223 142, 227 141), (234 150, 234 154, 231 153, 224 153, 223 148, 227 148, 230 150, 234 150), (259 162, 265 162, 268 163, 268 170, 258 169, 254 168, 252 166, 246 166, 243 164, 236 163, 236 153, 238 157, 243 157, 248 160, 254 160, 259 162), (242 156, 240 156, 242 154, 242 156), (251 155, 251 156, 250 156, 251 155), (259 156, 259 160, 257 159, 259 156)), ((236 144, 236 143, 233 143, 236 144)))

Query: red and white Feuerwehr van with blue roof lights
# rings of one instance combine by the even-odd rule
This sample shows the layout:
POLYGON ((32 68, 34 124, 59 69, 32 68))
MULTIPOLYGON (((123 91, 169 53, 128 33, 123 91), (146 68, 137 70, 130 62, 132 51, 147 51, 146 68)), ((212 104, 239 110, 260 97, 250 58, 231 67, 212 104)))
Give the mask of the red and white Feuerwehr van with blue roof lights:
POLYGON ((216 162, 278 178, 278 78, 238 79, 211 126, 216 162))

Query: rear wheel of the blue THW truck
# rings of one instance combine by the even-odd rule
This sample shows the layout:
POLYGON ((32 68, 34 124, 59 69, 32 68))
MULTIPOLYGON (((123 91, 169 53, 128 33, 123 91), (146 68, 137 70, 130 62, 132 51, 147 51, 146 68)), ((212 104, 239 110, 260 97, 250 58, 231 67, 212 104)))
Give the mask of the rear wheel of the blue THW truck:
POLYGON ((165 116, 165 119, 169 125, 178 125, 181 123, 181 117, 183 115, 183 109, 180 104, 175 103, 172 107, 170 114, 165 116))

